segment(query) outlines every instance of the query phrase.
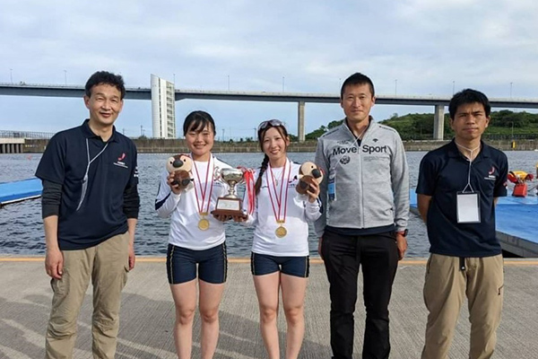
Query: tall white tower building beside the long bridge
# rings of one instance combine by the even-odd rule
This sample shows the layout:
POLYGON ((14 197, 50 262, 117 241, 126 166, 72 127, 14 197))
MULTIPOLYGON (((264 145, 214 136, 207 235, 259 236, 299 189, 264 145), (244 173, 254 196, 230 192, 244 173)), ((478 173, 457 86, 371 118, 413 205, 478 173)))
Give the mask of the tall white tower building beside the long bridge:
POLYGON ((175 86, 152 74, 152 125, 154 138, 176 138, 175 86))

